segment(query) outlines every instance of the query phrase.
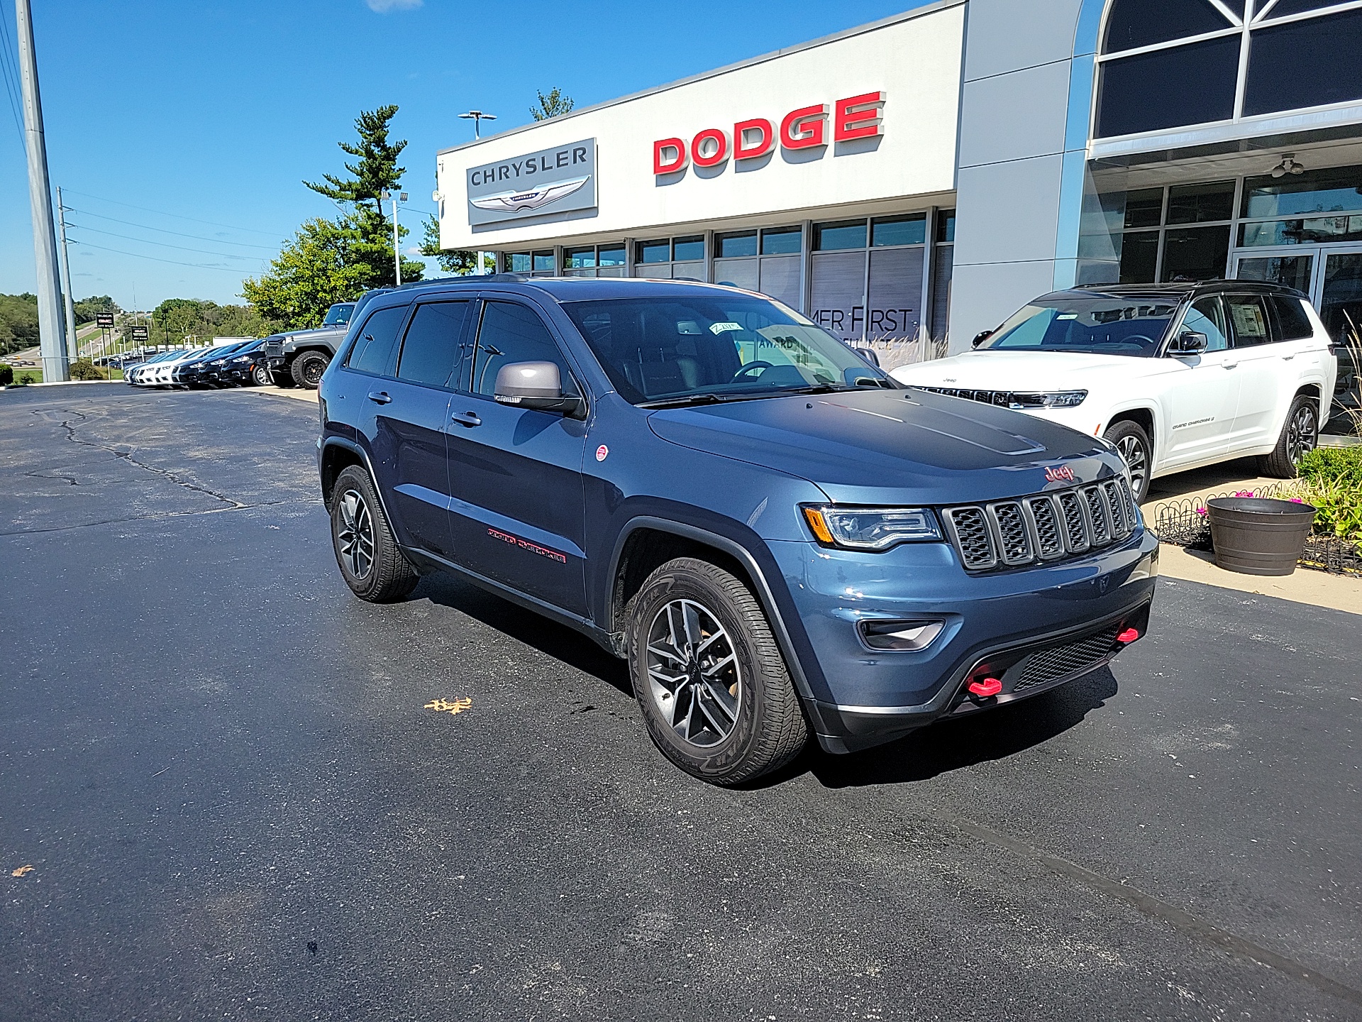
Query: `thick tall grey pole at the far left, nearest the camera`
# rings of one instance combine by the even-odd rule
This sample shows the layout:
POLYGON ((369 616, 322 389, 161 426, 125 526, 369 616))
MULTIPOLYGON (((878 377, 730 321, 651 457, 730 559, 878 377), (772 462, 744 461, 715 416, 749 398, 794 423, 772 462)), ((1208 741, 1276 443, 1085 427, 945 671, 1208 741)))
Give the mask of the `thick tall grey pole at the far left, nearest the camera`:
POLYGON ((57 237, 52 222, 52 183, 48 180, 48 144, 42 138, 42 99, 38 95, 38 59, 33 46, 33 11, 29 0, 15 0, 19 29, 19 90, 23 94, 23 142, 29 151, 29 204, 33 210, 33 253, 38 270, 38 343, 42 379, 69 380, 71 362, 63 334, 61 297, 57 288, 57 237))

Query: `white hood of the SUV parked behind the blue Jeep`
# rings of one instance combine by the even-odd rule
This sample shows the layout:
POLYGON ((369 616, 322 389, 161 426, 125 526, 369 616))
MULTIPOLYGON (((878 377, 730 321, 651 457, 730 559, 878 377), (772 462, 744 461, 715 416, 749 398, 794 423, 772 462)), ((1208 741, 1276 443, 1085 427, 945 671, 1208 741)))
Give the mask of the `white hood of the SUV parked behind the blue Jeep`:
POLYGON ((1095 379, 1145 376, 1167 365, 1166 358, 1080 352, 966 352, 949 358, 900 365, 889 375, 918 387, 1051 391, 1088 390, 1095 379))

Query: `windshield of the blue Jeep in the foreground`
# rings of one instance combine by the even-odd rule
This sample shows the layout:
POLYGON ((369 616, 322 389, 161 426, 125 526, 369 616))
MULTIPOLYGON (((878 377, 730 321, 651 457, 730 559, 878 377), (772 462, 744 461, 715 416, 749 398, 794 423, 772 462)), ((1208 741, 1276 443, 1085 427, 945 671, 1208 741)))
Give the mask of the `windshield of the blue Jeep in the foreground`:
POLYGON ((893 386, 832 334, 765 298, 697 290, 563 308, 633 405, 893 386))

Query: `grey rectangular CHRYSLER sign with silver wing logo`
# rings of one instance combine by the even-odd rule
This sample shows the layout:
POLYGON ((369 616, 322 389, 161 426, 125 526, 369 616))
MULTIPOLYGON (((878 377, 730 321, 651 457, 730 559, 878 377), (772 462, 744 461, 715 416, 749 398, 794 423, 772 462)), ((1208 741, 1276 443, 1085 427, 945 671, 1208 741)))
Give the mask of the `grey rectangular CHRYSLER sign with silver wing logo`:
POLYGON ((467 172, 469 223, 594 208, 595 176, 595 139, 475 166, 467 172))

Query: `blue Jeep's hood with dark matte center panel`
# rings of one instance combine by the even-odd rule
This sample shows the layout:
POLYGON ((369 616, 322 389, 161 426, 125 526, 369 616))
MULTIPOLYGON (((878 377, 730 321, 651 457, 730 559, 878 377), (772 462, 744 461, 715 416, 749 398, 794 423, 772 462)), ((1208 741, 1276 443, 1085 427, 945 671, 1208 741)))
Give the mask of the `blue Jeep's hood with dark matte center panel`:
POLYGON ((1106 443, 1020 412, 923 391, 858 390, 665 409, 663 440, 798 476, 832 500, 960 504, 1039 493, 1046 469, 1118 474, 1106 443))

